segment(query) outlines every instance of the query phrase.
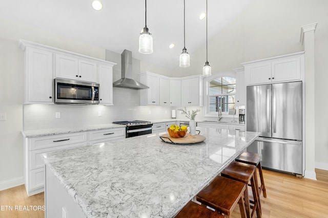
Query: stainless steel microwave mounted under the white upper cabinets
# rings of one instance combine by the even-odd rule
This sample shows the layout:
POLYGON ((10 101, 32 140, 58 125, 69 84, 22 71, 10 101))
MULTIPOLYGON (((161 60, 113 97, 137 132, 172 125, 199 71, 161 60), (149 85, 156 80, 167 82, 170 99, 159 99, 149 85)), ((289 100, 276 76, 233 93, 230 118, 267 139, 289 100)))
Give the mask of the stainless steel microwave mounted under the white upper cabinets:
POLYGON ((69 79, 54 79, 55 103, 98 104, 99 84, 69 79))

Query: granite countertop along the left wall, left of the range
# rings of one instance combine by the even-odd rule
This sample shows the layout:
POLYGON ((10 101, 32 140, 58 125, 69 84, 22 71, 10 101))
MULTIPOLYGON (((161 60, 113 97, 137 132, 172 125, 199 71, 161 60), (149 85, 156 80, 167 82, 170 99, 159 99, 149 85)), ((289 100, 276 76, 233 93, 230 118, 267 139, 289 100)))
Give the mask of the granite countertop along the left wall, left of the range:
POLYGON ((22 131, 22 134, 24 137, 30 138, 30 137, 51 136, 51 135, 59 135, 59 134, 67 134, 67 133, 87 132, 87 131, 100 130, 100 129, 120 128, 125 126, 126 125, 108 123, 108 124, 86 125, 86 126, 79 126, 79 127, 61 127, 61 128, 24 130, 22 131))

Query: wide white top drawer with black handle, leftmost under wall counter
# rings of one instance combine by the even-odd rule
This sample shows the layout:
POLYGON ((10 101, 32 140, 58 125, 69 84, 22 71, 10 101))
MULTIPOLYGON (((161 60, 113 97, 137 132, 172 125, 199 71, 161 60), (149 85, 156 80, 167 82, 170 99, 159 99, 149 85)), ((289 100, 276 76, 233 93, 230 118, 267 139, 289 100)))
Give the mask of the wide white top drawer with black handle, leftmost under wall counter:
POLYGON ((72 133, 55 136, 30 138, 30 150, 75 144, 87 141, 87 133, 72 133))

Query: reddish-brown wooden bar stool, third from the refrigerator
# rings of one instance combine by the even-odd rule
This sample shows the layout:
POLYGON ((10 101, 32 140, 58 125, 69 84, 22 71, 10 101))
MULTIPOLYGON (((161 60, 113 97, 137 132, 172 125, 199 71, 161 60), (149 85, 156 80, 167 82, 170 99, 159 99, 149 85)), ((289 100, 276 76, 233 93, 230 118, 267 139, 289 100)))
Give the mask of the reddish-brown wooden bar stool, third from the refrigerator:
POLYGON ((241 217, 244 218, 247 217, 243 200, 246 187, 241 182, 218 176, 197 194, 196 200, 226 217, 230 217, 238 204, 241 217))

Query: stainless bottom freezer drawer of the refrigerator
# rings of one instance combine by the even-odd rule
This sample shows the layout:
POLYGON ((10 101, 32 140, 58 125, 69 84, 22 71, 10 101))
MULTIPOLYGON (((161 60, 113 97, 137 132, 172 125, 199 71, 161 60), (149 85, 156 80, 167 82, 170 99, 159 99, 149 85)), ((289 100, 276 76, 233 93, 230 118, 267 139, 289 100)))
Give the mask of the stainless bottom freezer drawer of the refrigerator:
POLYGON ((263 167, 302 174, 302 142, 259 137, 247 151, 262 155, 263 167))

